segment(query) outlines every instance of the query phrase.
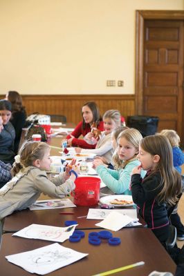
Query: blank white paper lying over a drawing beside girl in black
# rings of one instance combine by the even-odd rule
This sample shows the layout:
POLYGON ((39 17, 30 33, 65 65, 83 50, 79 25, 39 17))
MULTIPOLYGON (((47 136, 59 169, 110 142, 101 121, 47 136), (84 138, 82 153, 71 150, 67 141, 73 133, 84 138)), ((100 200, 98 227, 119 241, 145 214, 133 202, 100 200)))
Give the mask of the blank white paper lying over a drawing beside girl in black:
POLYGON ((111 212, 104 220, 95 225, 109 230, 118 231, 132 221, 134 221, 134 219, 127 215, 122 215, 118 212, 111 212))

